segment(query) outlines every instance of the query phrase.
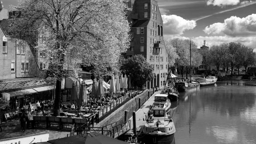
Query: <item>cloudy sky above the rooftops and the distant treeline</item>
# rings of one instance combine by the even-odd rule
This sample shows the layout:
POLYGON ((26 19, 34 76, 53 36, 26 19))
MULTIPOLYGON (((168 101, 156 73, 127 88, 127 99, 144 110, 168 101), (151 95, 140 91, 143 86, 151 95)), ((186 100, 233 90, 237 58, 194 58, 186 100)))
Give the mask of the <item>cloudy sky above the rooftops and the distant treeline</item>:
MULTIPOLYGON (((22 0, 21 0, 22 1, 22 0)), ((256 50, 256 0, 157 0, 164 37, 191 38, 198 47, 240 42, 256 50)), ((18 0, 2 0, 4 8, 18 0)))

